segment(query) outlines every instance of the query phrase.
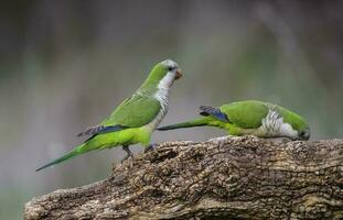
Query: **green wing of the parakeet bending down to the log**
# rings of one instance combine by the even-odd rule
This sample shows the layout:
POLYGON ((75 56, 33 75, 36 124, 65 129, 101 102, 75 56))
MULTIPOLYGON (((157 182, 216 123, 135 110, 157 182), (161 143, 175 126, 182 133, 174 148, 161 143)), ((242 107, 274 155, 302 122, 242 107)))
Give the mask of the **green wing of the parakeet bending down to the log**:
POLYGON ((247 100, 224 105, 221 111, 227 116, 231 123, 242 129, 257 129, 269 110, 265 102, 247 100))

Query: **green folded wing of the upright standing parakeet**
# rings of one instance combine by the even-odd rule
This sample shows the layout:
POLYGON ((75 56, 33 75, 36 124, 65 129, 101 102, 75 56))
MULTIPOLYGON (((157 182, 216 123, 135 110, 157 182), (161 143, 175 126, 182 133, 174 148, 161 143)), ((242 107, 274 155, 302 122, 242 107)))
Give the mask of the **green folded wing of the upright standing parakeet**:
POLYGON ((126 99, 101 125, 138 128, 150 123, 160 112, 160 102, 150 96, 135 94, 126 99))

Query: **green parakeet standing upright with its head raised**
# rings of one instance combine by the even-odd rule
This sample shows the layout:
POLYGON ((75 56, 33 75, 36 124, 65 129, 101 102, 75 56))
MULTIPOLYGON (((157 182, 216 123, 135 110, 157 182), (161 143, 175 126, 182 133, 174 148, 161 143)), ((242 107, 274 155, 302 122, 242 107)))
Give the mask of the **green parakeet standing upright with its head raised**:
POLYGON ((69 153, 37 168, 41 170, 54 164, 94 150, 122 146, 127 152, 124 160, 132 156, 129 145, 141 143, 148 147, 151 133, 168 111, 169 89, 182 76, 179 65, 165 59, 157 64, 141 87, 126 99, 100 124, 78 134, 89 135, 84 143, 69 153))

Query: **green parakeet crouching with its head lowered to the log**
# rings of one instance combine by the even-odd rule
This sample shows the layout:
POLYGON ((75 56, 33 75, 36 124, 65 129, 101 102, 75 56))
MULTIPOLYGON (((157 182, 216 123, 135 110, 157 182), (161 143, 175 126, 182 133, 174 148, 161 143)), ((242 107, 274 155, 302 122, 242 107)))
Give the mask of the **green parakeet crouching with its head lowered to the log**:
POLYGON ((225 129, 229 135, 289 138, 291 140, 309 140, 310 138, 309 125, 302 117, 274 103, 246 100, 218 108, 202 106, 200 110, 201 118, 158 130, 208 125, 225 129))

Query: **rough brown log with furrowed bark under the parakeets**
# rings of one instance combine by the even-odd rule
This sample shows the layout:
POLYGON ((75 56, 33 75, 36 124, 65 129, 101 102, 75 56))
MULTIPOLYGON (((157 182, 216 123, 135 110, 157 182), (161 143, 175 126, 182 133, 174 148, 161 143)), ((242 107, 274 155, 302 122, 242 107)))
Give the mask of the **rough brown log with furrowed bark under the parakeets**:
POLYGON ((343 140, 165 142, 25 219, 342 219, 343 140))

